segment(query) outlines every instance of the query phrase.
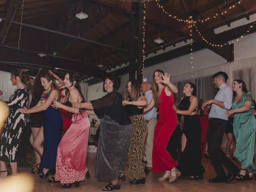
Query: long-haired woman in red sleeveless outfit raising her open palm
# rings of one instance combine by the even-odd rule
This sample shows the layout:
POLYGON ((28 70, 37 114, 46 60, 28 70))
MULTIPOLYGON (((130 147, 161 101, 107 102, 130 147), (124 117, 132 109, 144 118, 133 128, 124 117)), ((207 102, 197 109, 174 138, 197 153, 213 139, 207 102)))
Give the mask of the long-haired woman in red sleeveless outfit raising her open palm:
POLYGON ((153 77, 152 92, 154 99, 144 108, 144 112, 155 105, 158 105, 159 108, 152 152, 153 172, 165 171, 164 176, 158 178, 158 180, 164 181, 169 178, 169 182, 174 182, 180 176, 180 172, 176 169, 178 163, 166 148, 178 124, 178 117, 173 108, 173 94, 178 92, 178 88, 170 82, 170 74, 168 75, 162 70, 155 70, 153 77))

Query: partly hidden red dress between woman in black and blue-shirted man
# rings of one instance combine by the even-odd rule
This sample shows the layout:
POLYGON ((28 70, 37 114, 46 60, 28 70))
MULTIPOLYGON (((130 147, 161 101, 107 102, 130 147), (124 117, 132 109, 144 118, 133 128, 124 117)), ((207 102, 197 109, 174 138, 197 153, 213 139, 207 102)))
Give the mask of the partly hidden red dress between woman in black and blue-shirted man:
POLYGON ((202 154, 204 154, 205 143, 207 142, 207 129, 209 126, 209 117, 208 117, 208 114, 203 114, 203 116, 200 116, 200 114, 198 114, 198 118, 200 120, 201 128, 202 128, 201 151, 202 151, 202 154))

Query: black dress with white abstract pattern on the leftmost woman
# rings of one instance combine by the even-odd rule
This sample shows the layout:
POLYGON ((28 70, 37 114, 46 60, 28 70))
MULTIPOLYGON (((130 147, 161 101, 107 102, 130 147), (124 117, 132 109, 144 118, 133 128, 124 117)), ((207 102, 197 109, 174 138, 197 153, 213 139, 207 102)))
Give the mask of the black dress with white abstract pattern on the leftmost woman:
POLYGON ((29 93, 26 88, 16 89, 10 96, 8 106, 10 115, 6 119, 0 139, 0 160, 4 162, 17 162, 22 132, 26 125, 25 114, 18 112, 19 108, 28 104, 29 93))

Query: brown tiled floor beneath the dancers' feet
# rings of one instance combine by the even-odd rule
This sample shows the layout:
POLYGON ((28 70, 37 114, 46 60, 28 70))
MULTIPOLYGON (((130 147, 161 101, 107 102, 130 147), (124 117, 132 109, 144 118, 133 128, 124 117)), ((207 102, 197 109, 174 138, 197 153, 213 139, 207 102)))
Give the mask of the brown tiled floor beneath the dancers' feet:
MULTIPOLYGON (((91 179, 84 182, 80 182, 80 187, 64 189, 61 188, 59 183, 50 184, 47 179, 39 178, 38 174, 31 174, 35 179, 34 192, 94 192, 102 191, 102 187, 108 184, 108 181, 97 180, 94 176, 94 160, 95 153, 88 153, 87 167, 90 170, 91 179)), ((235 161, 236 164, 238 162, 235 161)), ((126 181, 121 182, 121 189, 119 192, 255 192, 256 191, 256 180, 251 181, 232 181, 231 183, 209 183, 209 178, 214 178, 215 173, 212 168, 212 164, 209 159, 202 159, 202 164, 206 169, 204 178, 202 180, 190 180, 188 177, 180 177, 173 183, 159 182, 158 177, 162 176, 163 173, 152 173, 150 172, 146 176, 146 184, 131 185, 126 181)), ((30 172, 28 168, 18 168, 19 172, 30 172)), ((128 172, 126 166, 125 172, 128 172)), ((1 191, 1 189, 0 189, 1 191)))

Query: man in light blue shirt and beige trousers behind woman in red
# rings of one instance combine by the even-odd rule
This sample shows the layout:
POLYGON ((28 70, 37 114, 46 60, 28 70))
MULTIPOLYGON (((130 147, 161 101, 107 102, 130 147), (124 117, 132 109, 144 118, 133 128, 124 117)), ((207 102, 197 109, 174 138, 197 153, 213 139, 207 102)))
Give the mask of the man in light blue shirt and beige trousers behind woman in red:
MULTIPOLYGON (((148 104, 153 99, 153 94, 151 90, 151 85, 149 82, 142 82, 141 88, 140 88, 142 94, 145 95, 147 98, 148 104)), ((148 112, 144 113, 144 117, 148 123, 148 134, 146 137, 146 144, 145 144, 145 150, 144 155, 146 156, 147 161, 147 168, 148 170, 152 170, 152 150, 153 150, 153 141, 154 141, 154 130, 156 126, 156 113, 157 108, 153 107, 148 112)))

